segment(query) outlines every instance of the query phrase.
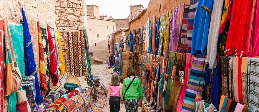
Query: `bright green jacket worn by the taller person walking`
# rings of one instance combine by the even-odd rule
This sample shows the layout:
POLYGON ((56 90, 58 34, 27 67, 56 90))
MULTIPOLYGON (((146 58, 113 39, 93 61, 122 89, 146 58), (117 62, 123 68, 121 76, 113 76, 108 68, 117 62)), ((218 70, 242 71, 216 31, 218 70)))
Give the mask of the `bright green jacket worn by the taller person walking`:
POLYGON ((124 99, 143 99, 143 88, 140 83, 139 78, 135 78, 135 80, 130 85, 129 89, 126 92, 127 87, 129 86, 129 83, 131 80, 129 78, 125 78, 122 85, 122 95, 124 96, 124 99))

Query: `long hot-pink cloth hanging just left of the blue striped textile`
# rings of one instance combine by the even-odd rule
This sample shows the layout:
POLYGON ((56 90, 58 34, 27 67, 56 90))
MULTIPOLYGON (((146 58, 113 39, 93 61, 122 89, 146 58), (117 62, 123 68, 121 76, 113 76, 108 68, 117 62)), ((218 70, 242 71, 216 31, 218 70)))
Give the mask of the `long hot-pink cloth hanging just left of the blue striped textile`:
POLYGON ((187 79, 188 78, 188 68, 190 66, 192 66, 192 60, 193 60, 193 56, 192 54, 190 53, 187 53, 186 54, 186 64, 185 64, 185 74, 184 74, 184 85, 182 87, 182 90, 180 92, 180 95, 179 95, 179 98, 178 98, 178 101, 177 101, 177 105, 176 105, 176 110, 177 112, 180 112, 181 109, 182 109, 182 104, 183 104, 183 101, 184 101, 184 97, 185 97, 185 94, 186 94, 186 90, 187 90, 187 79))

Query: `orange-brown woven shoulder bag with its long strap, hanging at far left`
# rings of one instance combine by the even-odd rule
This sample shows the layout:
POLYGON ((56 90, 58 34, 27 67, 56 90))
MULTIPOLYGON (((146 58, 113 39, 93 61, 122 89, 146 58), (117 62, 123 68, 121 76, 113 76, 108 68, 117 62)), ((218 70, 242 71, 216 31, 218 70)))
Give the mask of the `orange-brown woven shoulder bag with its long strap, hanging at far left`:
POLYGON ((8 63, 8 48, 11 50, 11 63, 8 63, 5 67, 5 80, 6 80, 6 96, 14 93, 21 88, 21 72, 15 61, 13 43, 11 39, 9 24, 7 19, 4 19, 4 30, 5 30, 5 45, 6 45, 6 61, 8 63), (7 40, 10 43, 8 46, 7 40))

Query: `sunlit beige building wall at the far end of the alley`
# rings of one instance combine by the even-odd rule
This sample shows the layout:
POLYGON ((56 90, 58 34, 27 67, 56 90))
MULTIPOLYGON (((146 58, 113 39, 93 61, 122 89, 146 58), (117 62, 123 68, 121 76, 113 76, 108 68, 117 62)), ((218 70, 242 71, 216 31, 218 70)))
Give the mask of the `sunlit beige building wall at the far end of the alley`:
POLYGON ((105 61, 108 60, 109 52, 107 36, 115 30, 115 21, 92 18, 87 15, 89 50, 90 52, 93 52, 95 58, 105 61), (99 38, 97 38, 97 34, 99 34, 99 38), (94 46, 94 43, 96 43, 96 46, 94 46))

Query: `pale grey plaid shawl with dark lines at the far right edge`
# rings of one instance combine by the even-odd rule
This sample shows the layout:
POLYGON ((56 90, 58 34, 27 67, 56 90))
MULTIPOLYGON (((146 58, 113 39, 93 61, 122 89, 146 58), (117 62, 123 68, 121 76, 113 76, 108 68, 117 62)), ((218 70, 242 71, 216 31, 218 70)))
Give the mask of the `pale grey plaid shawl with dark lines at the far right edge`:
POLYGON ((259 73, 259 58, 248 58, 248 96, 249 106, 252 111, 259 111, 259 95, 258 93, 258 73, 259 73))

